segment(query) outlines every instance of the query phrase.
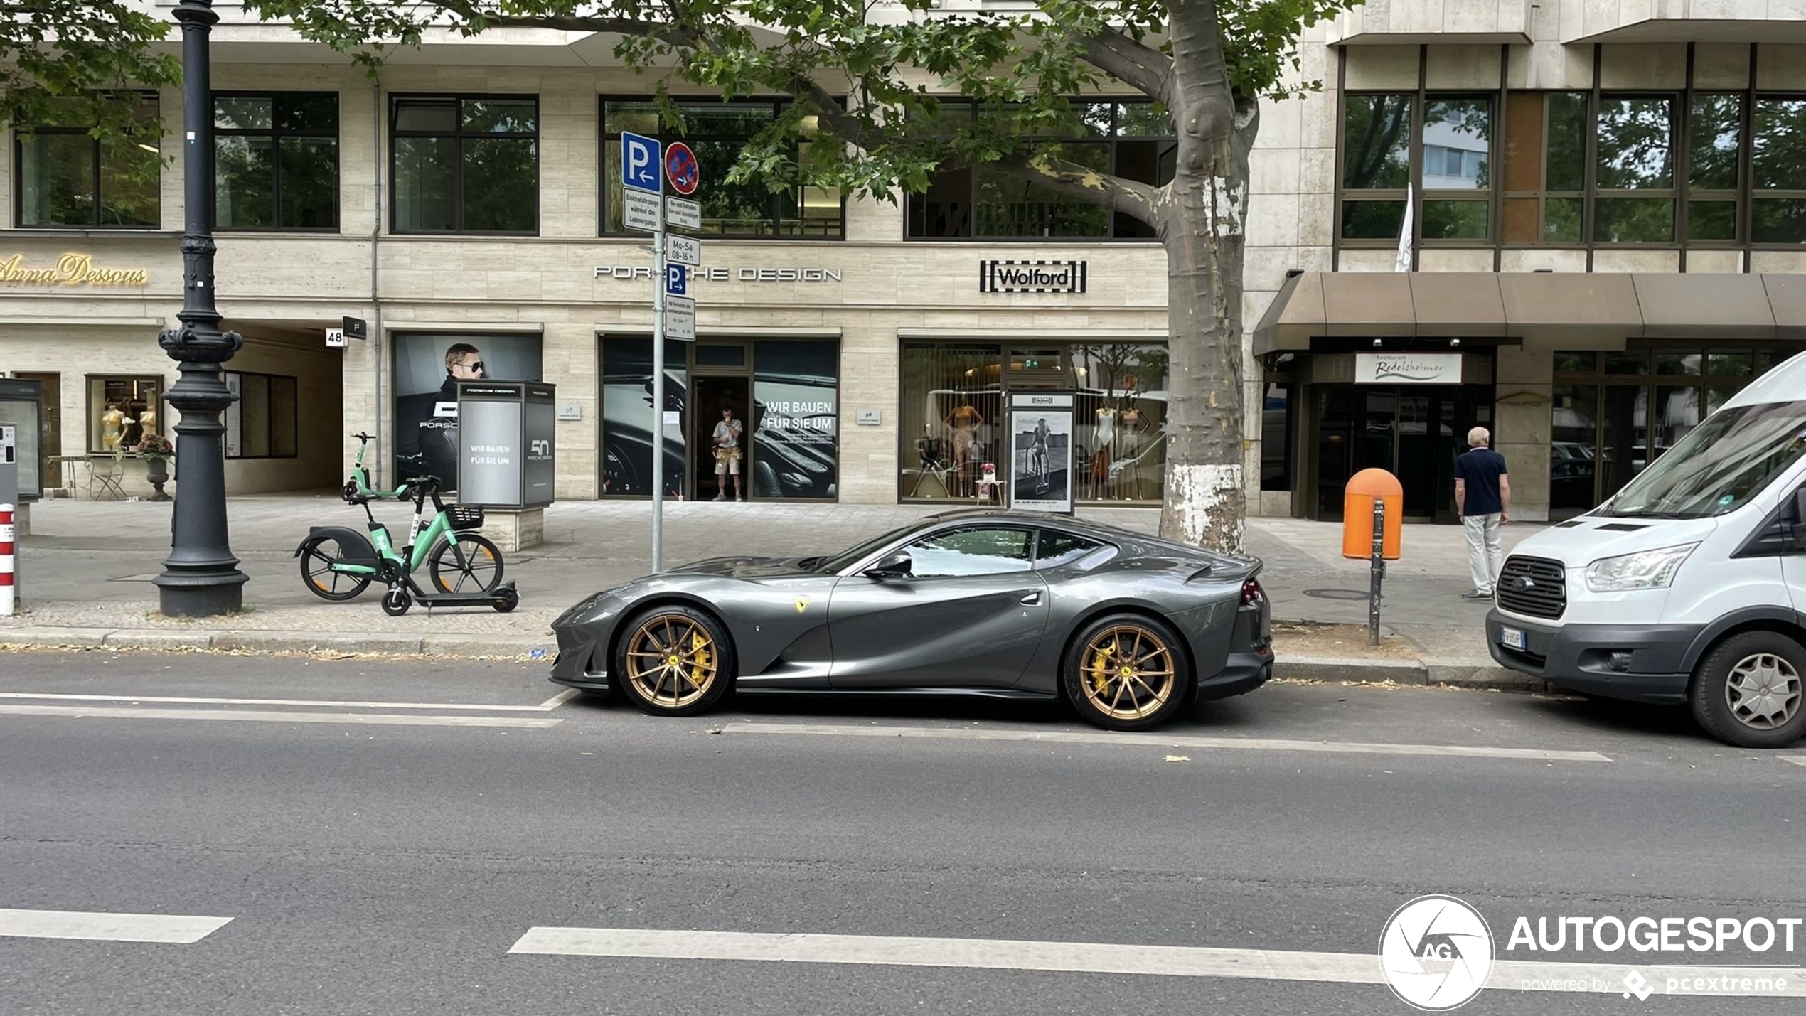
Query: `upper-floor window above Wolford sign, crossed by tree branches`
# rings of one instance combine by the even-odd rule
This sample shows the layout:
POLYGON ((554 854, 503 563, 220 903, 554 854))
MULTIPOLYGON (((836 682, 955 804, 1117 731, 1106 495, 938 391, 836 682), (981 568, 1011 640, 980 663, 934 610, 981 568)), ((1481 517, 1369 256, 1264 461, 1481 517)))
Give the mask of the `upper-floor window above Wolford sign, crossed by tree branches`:
MULTIPOLYGON (((973 117, 990 115, 975 103, 941 103, 928 132, 952 135, 973 117)), ((1178 166, 1172 117, 1152 103, 1073 103, 1055 125, 1022 128, 1060 159, 1098 173, 1165 186, 1178 166)), ((1031 143, 1033 146, 1033 143, 1031 143)), ((945 162, 926 193, 907 199, 910 240, 1116 238, 1152 240, 1154 227, 1100 204, 1076 200, 993 164, 945 162)))

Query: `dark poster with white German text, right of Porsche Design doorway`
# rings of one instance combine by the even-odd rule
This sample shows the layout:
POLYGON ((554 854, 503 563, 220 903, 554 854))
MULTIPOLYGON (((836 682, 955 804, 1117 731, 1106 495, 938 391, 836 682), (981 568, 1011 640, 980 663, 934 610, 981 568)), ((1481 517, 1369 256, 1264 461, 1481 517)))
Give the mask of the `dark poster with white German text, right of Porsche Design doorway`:
POLYGON ((753 350, 753 494, 833 500, 840 455, 836 343, 753 350))

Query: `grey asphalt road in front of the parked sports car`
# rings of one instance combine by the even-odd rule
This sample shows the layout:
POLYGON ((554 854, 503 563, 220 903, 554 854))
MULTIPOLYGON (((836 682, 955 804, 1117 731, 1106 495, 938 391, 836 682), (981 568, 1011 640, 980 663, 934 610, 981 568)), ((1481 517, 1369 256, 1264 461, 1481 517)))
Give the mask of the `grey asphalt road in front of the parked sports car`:
POLYGON ((1806 928, 1506 947, 1519 917, 1806 917, 1806 745, 1671 711, 1271 686, 1102 734, 1055 706, 554 698, 522 664, 0 659, 0 1012, 1403 1014, 1376 944, 1425 893, 1499 960, 1613 978, 1499 965, 1463 1012, 1801 1005, 1660 989, 1806 982, 1806 928), (215 920, 96 940, 197 924, 168 915, 215 920))

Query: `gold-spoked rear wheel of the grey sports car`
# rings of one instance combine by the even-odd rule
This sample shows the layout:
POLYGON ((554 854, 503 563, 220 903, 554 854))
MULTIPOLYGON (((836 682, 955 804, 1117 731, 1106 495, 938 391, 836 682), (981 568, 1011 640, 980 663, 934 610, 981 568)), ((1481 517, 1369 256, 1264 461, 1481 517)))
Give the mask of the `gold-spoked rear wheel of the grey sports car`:
POLYGON ((1080 628, 1060 671, 1073 709, 1107 731, 1170 720, 1194 684, 1178 632, 1140 614, 1111 614, 1080 628))

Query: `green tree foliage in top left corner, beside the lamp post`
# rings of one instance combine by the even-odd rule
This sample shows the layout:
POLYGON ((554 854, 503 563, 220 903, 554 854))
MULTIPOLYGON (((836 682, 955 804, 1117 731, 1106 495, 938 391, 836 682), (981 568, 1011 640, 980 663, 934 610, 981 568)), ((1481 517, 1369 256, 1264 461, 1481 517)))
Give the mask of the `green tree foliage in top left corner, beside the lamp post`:
POLYGON ((161 125, 137 115, 137 88, 181 81, 159 52, 170 22, 121 0, 16 0, 0 18, 0 121, 87 126, 94 137, 155 144, 161 125))

